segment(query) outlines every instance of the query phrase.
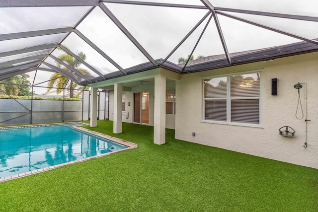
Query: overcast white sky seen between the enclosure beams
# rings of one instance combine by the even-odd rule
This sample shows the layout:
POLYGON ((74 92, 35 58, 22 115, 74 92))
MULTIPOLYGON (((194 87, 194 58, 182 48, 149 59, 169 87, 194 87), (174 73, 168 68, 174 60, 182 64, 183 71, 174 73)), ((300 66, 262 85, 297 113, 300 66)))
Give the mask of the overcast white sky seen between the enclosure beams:
MULTIPOLYGON (((149 0, 143 0, 149 1, 149 0)), ((151 0, 152 2, 168 2, 203 5, 200 0, 151 0)), ((228 7, 248 9, 264 12, 277 12, 297 15, 311 15, 318 17, 317 0, 240 0, 224 1, 210 0, 215 7, 228 7)), ((185 35, 208 12, 204 9, 185 9, 173 7, 142 6, 105 3, 111 12, 128 29, 144 49, 156 60, 164 59, 185 35)), ((24 32, 33 30, 53 29, 73 26, 85 14, 89 7, 24 7, 0 8, 0 34, 24 32)), ((284 31, 317 38, 318 24, 311 21, 273 18, 267 16, 230 13, 257 23, 279 28, 284 31)), ((192 33, 192 35, 176 50, 168 61, 177 63, 178 58, 187 57, 196 44, 209 17, 192 33)), ((230 53, 273 46, 296 43, 300 40, 265 30, 247 23, 234 20, 218 14, 221 29, 230 53)), ((77 29, 103 52, 111 57, 122 68, 130 68, 148 59, 132 44, 132 42, 119 30, 108 16, 96 7, 77 27, 77 29)), ((37 38, 21 39, 20 41, 0 41, 0 52, 26 48, 34 45, 43 45, 63 38, 64 35, 42 36, 37 38)), ((63 42, 73 53, 83 52, 86 62, 103 74, 117 71, 117 68, 99 55, 75 33, 71 33, 63 42)), ((63 54, 61 51, 53 52, 54 56, 63 54)), ((193 55, 211 56, 224 54, 214 18, 197 45, 193 55)), ((22 56, 21 56, 22 57, 22 56)), ((3 60, 3 58, 2 58, 3 60)), ((1 62, 1 58, 0 58, 1 62)), ((55 65, 54 60, 47 61, 55 65)), ((85 66, 83 69, 89 70, 85 66)), ((89 70, 92 75, 97 76, 89 70)), ((33 81, 34 72, 28 73, 33 81)), ((48 80, 51 72, 38 71, 35 84, 48 80)), ((44 83, 45 84, 45 83, 44 83)), ((43 84, 43 85, 44 85, 43 84)), ((36 88, 36 93, 44 93, 45 88, 36 88)))

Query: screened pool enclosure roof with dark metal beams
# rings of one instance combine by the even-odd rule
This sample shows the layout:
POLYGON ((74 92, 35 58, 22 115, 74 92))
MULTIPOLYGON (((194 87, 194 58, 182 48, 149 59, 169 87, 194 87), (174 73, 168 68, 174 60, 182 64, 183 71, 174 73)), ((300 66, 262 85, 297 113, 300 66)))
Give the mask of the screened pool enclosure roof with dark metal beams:
POLYGON ((317 6, 317 0, 0 0, 0 80, 59 72, 83 85, 157 67, 188 73, 318 51, 317 6), (89 74, 61 61, 65 53, 89 74))

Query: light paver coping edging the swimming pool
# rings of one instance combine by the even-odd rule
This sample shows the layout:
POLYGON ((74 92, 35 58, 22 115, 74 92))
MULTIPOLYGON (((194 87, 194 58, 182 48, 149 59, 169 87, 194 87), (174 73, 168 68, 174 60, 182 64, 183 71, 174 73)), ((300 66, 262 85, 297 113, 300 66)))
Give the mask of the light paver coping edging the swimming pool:
MULTIPOLYGON (((51 126, 52 125, 53 126, 58 126, 58 125, 67 125, 67 124, 88 125, 88 124, 82 123, 82 122, 68 122, 68 123, 36 124, 36 125, 20 125, 20 126, 12 126, 12 127, 0 127, 0 129, 3 129, 3 128, 24 128, 24 127, 32 127, 32 126, 35 126, 35 127, 37 127, 37 126, 50 126, 50 125, 51 126)), ((99 155, 95 155, 95 156, 85 157, 85 158, 82 158, 82 159, 79 159, 79 160, 74 160, 74 161, 70 161, 70 162, 66 162, 66 163, 61 163, 61 164, 57 164, 57 165, 54 165, 54 166, 40 168, 40 169, 36 169, 36 170, 33 170, 33 171, 28 171, 28 172, 24 172, 24 173, 20 173, 20 174, 16 174, 16 175, 3 177, 3 178, 0 178, 0 183, 5 182, 5 181, 9 181, 9 180, 14 180, 14 179, 21 178, 21 177, 25 177, 25 176, 29 176, 29 175, 33 175, 33 174, 37 174, 37 173, 41 173, 41 172, 44 172, 44 171, 49 171, 49 170, 52 170, 52 169, 64 167, 64 166, 67 166, 67 165, 83 162, 83 161, 86 161, 86 160, 91 160, 91 159, 94 159, 94 158, 103 157, 103 156, 106 156, 106 155, 110 155, 110 154, 113 154, 113 153, 117 153, 117 152, 121 152, 121 151, 125 151, 125 150, 129 150, 129 149, 133 149, 133 148, 137 148, 138 147, 138 144, 130 142, 130 141, 125 141, 125 140, 121 140, 121 139, 118 139, 118 138, 115 138, 115 137, 112 137, 112 136, 107 136, 107 135, 102 134, 102 133, 98 133, 98 132, 95 132, 95 131, 87 130, 85 128, 80 128, 78 126, 73 126, 73 128, 76 129, 76 130, 82 131, 84 133, 88 133, 88 134, 91 134, 93 136, 100 137, 102 139, 107 139, 107 140, 110 140, 110 141, 117 142, 117 143, 119 143, 121 145, 127 146, 127 148, 119 149, 119 150, 116 150, 116 151, 111 151, 111 152, 107 152, 107 153, 103 153, 103 154, 99 154, 99 155)))

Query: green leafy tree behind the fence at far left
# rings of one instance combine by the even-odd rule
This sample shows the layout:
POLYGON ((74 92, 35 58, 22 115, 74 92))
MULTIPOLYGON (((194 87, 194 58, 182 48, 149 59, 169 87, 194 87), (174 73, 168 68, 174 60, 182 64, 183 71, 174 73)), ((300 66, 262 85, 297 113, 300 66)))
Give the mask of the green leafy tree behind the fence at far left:
POLYGON ((10 84, 0 84, 1 90, 9 95, 15 96, 29 96, 31 95, 30 87, 23 85, 30 85, 30 81, 28 80, 30 77, 28 74, 23 73, 19 75, 12 76, 10 78, 6 78, 1 80, 2 83, 10 83, 10 84), (12 85, 11 85, 12 84, 12 85), (16 84, 16 85, 13 85, 16 84))

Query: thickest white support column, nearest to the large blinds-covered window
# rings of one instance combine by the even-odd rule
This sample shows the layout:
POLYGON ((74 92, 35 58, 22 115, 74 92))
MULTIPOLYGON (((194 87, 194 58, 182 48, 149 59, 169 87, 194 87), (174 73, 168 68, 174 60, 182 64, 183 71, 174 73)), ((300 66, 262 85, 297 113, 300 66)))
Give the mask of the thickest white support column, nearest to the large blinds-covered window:
POLYGON ((154 143, 165 143, 165 83, 163 74, 155 76, 154 143))

